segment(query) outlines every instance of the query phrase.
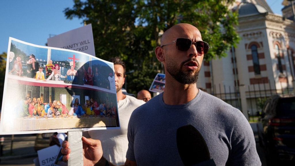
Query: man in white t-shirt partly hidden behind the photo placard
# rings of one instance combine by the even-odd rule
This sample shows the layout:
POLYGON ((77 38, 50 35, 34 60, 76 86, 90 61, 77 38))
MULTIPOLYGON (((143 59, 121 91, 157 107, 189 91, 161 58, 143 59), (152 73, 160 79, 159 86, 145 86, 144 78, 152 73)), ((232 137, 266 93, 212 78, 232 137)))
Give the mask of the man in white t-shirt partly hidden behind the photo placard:
MULTIPOLYGON (((125 63, 119 58, 110 59, 114 63, 115 84, 117 92, 117 102, 119 111, 119 121, 121 129, 110 130, 91 130, 83 132, 83 136, 92 139, 99 139, 103 146, 104 157, 116 165, 123 165, 126 161, 126 152, 128 149, 127 127, 133 110, 145 102, 135 97, 125 95, 122 87, 125 82, 125 63)), ((111 85, 112 87, 112 85, 111 85)))

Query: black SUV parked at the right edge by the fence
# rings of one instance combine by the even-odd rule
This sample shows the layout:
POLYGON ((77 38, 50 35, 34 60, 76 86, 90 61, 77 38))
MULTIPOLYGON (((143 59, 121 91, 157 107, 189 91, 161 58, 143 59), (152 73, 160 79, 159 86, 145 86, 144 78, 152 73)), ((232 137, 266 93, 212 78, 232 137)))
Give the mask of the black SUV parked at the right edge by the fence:
POLYGON ((268 165, 295 163, 295 95, 275 95, 264 107, 258 125, 260 146, 268 165))

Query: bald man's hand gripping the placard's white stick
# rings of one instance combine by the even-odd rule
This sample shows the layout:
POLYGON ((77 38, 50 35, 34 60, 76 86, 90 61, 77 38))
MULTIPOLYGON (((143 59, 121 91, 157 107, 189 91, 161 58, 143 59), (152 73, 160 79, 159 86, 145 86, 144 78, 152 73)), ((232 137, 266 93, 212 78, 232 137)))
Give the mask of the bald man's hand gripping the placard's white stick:
MULTIPOLYGON (((102 157, 101 142, 97 139, 85 138, 82 136, 83 142, 83 163, 84 165, 104 165, 106 160, 102 157)), ((70 143, 63 141, 61 152, 65 154, 63 161, 67 161, 70 158, 71 149, 70 143)))

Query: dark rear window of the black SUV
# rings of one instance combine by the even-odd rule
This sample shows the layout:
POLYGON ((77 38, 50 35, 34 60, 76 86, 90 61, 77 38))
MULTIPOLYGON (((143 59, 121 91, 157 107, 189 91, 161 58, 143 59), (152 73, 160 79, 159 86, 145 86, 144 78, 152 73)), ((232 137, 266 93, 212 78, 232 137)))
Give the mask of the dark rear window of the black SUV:
POLYGON ((295 117, 295 97, 280 98, 277 105, 279 116, 295 117))

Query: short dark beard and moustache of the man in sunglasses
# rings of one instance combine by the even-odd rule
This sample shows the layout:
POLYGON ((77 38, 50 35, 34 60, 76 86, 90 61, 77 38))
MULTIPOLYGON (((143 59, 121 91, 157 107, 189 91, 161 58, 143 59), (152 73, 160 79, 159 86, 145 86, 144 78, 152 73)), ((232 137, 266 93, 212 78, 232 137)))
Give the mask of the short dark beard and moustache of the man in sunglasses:
POLYGON ((188 59, 188 60, 182 62, 179 69, 176 68, 177 64, 175 61, 170 61, 166 64, 167 64, 166 70, 168 71, 168 73, 179 83, 181 83, 181 84, 194 84, 198 81, 198 76, 199 76, 201 66, 196 58, 191 58, 191 59, 188 59), (188 74, 185 74, 183 71, 181 71, 181 68, 182 68, 183 64, 185 64, 186 62, 189 62, 189 61, 196 61, 196 63, 198 64, 198 69, 197 69, 197 71, 189 71, 188 74), (195 73, 192 74, 193 72, 195 72, 195 73))

